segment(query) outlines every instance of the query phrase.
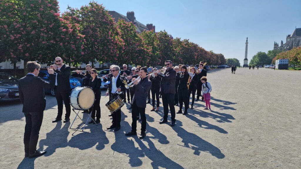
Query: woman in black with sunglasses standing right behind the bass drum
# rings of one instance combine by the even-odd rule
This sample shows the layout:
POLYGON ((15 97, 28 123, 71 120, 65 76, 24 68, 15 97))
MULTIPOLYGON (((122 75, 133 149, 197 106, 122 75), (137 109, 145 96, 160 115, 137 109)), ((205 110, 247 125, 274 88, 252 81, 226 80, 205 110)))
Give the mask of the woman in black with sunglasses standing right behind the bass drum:
MULTIPOLYGON (((91 118, 95 121, 95 112, 96 112, 96 121, 95 123, 100 123, 100 98, 101 98, 101 78, 97 77, 97 71, 96 69, 91 69, 90 71, 91 78, 89 80, 88 86, 92 88, 94 94, 95 94, 95 101, 92 108, 92 114, 91 118)), ((94 123, 94 121, 91 120, 89 124, 94 123)))

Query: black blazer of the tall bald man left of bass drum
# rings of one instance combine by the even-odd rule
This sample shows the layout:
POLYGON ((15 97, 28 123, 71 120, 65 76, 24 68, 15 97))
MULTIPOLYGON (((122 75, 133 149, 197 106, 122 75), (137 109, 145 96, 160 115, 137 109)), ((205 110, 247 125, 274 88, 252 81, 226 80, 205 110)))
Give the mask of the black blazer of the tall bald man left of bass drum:
POLYGON ((70 90, 70 66, 64 64, 61 70, 57 69, 54 72, 57 73, 57 86, 55 86, 54 89, 58 91, 70 90))

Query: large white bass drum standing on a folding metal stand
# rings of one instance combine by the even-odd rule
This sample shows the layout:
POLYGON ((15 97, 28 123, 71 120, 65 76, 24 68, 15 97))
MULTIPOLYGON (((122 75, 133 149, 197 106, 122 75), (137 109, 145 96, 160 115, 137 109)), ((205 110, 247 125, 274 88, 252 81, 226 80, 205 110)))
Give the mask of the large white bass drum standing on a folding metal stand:
POLYGON ((79 86, 71 91, 69 99, 73 108, 88 110, 94 104, 95 94, 91 87, 79 86))

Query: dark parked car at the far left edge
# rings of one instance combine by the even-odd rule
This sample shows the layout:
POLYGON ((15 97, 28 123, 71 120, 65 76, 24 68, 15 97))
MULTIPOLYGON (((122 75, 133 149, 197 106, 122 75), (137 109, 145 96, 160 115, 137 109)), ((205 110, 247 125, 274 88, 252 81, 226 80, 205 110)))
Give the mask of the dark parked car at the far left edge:
POLYGON ((20 100, 18 82, 10 74, 0 72, 0 101, 20 100))

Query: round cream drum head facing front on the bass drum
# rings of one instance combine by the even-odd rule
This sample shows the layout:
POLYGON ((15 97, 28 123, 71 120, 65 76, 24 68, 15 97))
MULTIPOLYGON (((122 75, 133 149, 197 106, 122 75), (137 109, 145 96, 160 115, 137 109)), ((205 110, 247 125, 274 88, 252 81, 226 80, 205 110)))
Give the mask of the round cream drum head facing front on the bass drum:
POLYGON ((81 90, 78 96, 78 104, 82 109, 87 110, 91 108, 94 104, 94 101, 95 94, 91 88, 85 87, 81 90))

